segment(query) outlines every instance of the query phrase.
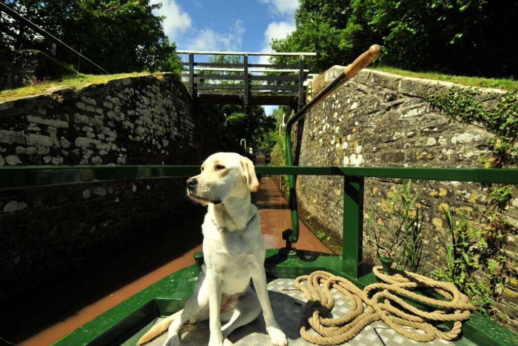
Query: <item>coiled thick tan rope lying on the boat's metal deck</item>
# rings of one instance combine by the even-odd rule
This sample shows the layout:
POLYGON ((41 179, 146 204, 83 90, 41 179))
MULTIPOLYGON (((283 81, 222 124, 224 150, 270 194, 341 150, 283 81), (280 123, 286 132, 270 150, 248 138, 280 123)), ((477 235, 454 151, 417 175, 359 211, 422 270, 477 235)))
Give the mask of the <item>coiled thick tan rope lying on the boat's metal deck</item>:
POLYGON ((394 271, 394 275, 387 275, 381 272, 381 266, 372 271, 382 282, 368 285, 364 290, 325 271, 315 271, 295 279, 294 289, 308 298, 300 336, 319 345, 337 345, 351 340, 372 322, 382 320, 399 334, 415 341, 452 340, 461 333, 462 322, 468 320, 470 311, 474 310, 468 297, 451 283, 407 271, 394 271), (307 281, 305 285, 302 284, 304 281, 307 281), (336 319, 326 317, 335 305, 332 288, 351 301, 349 312, 336 319), (429 298, 411 290, 416 288, 436 292, 444 299, 429 298), (400 296, 432 306, 435 310, 428 312, 415 308, 400 296), (365 311, 363 303, 367 307, 365 311), (443 321, 453 321, 453 327, 447 331, 437 328, 436 324, 443 321), (308 326, 318 335, 310 334, 308 326), (424 334, 405 327, 422 330, 424 334))

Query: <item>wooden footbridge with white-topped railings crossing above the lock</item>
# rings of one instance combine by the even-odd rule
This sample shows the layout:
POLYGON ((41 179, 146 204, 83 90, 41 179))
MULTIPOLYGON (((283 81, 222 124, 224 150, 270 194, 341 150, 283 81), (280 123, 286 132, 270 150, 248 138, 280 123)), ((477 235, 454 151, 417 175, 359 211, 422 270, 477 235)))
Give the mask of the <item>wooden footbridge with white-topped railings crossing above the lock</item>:
MULTIPOLYGON (((188 54, 189 71, 182 73, 188 80, 193 99, 204 103, 244 105, 297 105, 305 104, 304 81, 310 65, 304 57, 316 56, 309 52, 234 52, 178 50, 188 54), (239 56, 240 63, 197 62, 196 55, 239 56), (299 57, 298 64, 249 63, 250 56, 299 57)), ((185 80, 185 79, 184 79, 185 80)))

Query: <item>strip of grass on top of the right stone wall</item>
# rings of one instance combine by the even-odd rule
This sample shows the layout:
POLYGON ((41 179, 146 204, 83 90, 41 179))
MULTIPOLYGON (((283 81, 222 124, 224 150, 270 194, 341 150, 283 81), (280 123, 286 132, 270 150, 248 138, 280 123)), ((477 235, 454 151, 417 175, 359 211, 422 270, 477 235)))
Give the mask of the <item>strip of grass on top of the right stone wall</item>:
POLYGON ((442 74, 439 72, 406 71, 406 70, 400 70, 399 68, 389 67, 389 66, 376 66, 376 67, 368 67, 368 68, 371 68, 372 70, 394 73, 394 74, 398 74, 398 75, 406 76, 406 77, 444 80, 444 81, 449 81, 449 82, 472 86, 472 87, 498 88, 498 89, 504 89, 504 90, 518 89, 518 80, 514 80, 514 79, 510 79, 510 78, 484 78, 484 77, 452 76, 452 75, 442 74))

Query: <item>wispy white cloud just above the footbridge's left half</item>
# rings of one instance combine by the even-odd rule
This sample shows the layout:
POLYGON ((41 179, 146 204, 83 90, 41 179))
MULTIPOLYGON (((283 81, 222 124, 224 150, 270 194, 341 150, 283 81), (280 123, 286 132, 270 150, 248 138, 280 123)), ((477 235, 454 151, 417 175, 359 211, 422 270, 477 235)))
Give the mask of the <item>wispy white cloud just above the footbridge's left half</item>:
POLYGON ((219 33, 212 29, 203 29, 196 32, 187 44, 192 50, 239 50, 243 43, 243 21, 237 20, 228 33, 219 33))

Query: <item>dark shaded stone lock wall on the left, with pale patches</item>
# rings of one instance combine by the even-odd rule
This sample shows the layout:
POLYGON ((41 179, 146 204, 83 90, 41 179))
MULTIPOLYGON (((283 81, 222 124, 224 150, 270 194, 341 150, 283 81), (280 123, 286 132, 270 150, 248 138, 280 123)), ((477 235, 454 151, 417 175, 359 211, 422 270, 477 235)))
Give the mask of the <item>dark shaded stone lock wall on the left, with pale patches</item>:
MULTIPOLYGON (((65 87, 0 103, 0 166, 198 164, 226 150, 223 119, 174 74, 65 87)), ((0 299, 152 232, 184 207, 184 181, 0 191, 0 299)))

